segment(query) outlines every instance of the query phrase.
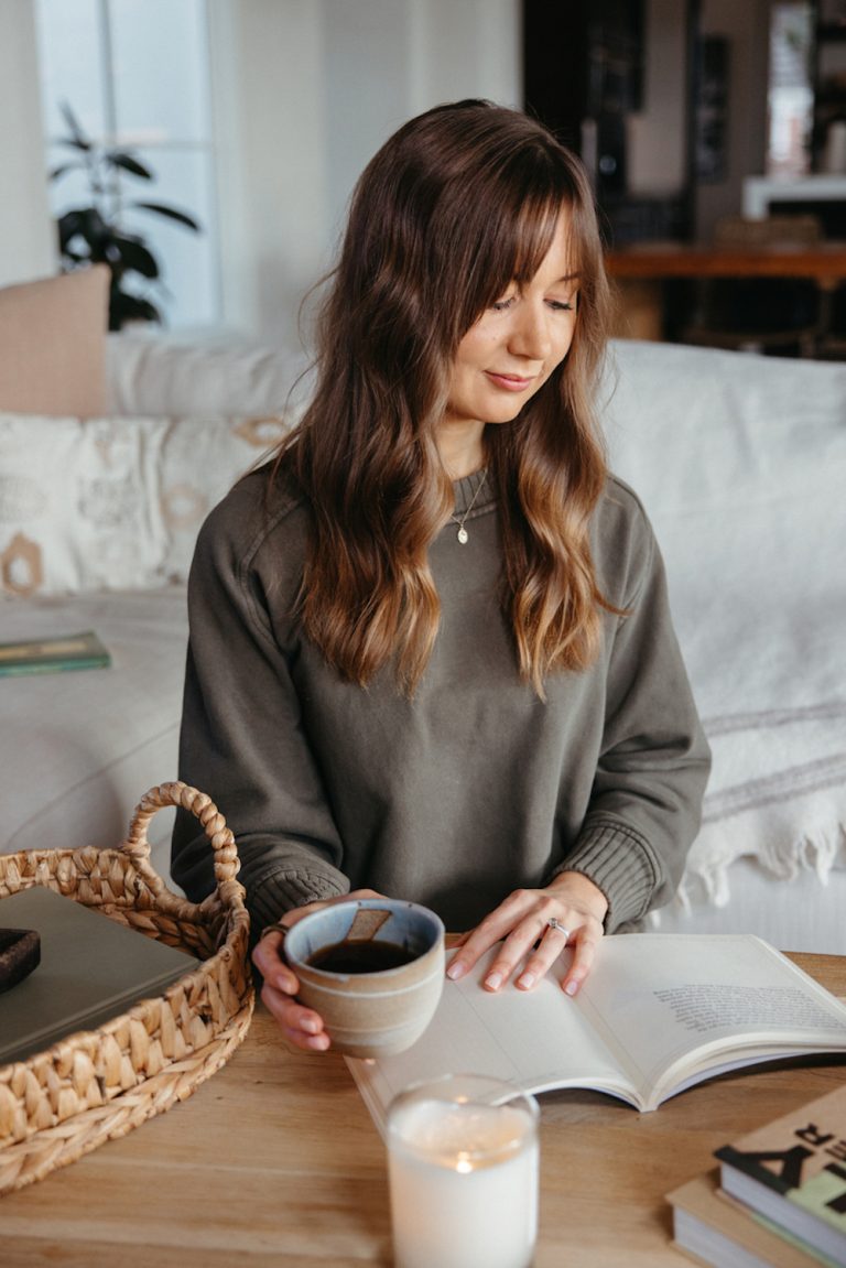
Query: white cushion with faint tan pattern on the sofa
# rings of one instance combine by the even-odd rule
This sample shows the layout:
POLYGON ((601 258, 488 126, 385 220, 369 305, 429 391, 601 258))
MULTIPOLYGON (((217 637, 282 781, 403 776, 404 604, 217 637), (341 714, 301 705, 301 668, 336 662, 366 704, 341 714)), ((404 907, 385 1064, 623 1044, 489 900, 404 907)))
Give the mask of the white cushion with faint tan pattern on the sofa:
POLYGON ((0 595, 185 581, 203 519, 285 426, 0 415, 0 595))

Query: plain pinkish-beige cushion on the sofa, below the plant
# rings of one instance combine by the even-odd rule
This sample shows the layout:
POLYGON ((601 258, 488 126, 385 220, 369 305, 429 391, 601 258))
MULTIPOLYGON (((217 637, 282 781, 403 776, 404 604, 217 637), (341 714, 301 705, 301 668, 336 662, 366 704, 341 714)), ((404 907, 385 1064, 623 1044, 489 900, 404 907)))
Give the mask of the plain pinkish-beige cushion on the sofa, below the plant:
POLYGON ((104 265, 0 289, 0 410, 104 412, 108 290, 104 265))

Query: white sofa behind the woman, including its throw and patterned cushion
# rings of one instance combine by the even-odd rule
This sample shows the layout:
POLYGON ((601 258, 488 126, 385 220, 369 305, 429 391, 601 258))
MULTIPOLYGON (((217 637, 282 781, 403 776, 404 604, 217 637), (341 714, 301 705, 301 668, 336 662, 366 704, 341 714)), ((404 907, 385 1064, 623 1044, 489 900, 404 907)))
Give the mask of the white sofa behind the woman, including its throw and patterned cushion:
MULTIPOLYGON (((3 851, 115 844, 175 777, 197 527, 307 396, 302 358, 268 349, 119 335, 104 365, 99 417, 0 412, 0 642, 95 629, 113 658, 0 678, 3 851)), ((714 749, 680 896, 649 923, 846 954, 846 365, 620 341, 604 410, 714 749)), ((169 834, 162 812, 165 872, 169 834)))

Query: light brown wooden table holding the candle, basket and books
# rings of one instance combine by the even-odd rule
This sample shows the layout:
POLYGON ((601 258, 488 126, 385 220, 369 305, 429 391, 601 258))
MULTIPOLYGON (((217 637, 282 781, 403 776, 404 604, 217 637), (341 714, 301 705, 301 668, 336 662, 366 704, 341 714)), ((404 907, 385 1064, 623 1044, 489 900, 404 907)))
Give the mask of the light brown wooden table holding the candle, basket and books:
MULTIPOLYGON (((794 959, 846 995, 846 957, 794 959)), ((647 1115, 587 1092, 544 1096, 537 1268, 690 1268, 663 1194, 718 1145, 845 1079, 833 1063, 736 1074, 647 1115)), ((188 1102, 0 1198, 0 1263, 387 1268, 383 1145, 344 1061, 289 1052, 259 1008, 188 1102)))

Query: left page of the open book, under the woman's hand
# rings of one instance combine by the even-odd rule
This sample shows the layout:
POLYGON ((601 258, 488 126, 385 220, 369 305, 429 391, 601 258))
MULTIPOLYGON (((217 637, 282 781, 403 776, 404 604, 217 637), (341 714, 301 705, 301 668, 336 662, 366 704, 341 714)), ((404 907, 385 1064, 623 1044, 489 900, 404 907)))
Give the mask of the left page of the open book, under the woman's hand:
POLYGON ((406 1052, 378 1061, 348 1059, 377 1125, 384 1110, 408 1087, 441 1074, 488 1074, 528 1092, 582 1087, 632 1101, 633 1089, 578 1002, 561 989, 557 967, 530 993, 481 985, 493 948, 460 981, 444 981, 435 1019, 406 1052))

